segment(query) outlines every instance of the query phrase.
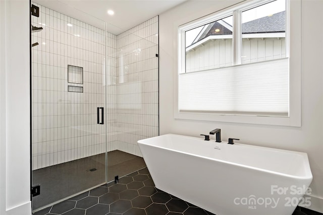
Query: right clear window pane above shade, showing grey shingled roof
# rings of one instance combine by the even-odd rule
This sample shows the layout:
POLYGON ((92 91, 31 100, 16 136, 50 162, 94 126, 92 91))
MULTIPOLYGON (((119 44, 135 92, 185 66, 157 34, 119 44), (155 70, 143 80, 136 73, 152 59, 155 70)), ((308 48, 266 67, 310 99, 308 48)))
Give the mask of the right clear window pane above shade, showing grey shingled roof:
POLYGON ((241 11, 241 63, 286 58, 286 1, 241 11))

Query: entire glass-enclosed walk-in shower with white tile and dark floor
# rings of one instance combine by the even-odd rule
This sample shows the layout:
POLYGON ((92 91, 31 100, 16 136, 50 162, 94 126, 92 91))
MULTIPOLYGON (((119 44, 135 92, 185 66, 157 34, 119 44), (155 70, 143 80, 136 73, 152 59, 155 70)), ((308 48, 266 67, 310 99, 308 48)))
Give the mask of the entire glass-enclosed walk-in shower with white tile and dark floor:
POLYGON ((137 140, 159 132, 158 17, 113 35, 45 2, 31 16, 33 211, 144 168, 137 140))

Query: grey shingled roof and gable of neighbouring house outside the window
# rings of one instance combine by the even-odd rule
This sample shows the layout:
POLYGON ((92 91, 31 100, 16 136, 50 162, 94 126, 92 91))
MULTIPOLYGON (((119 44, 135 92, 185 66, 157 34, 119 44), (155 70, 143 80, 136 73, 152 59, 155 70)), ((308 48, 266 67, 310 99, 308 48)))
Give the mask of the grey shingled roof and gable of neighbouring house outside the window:
MULTIPOLYGON (((256 33, 279 33, 285 32, 285 11, 265 16, 246 23, 242 23, 242 34, 256 33)), ((202 28, 193 44, 212 35, 229 35, 232 34, 232 26, 223 20, 207 24, 207 27, 202 28), (216 32, 216 29, 220 31, 216 32)), ((190 45, 190 46, 191 46, 190 45)))

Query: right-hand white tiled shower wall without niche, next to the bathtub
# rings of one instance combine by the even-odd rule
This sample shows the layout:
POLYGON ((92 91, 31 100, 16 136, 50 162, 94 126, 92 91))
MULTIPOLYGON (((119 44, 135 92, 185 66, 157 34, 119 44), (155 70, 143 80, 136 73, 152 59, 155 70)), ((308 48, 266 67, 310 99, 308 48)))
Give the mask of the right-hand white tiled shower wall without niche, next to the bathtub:
MULTIPOLYGON (((158 17, 117 36, 115 146, 142 156, 137 141, 158 135, 158 17)), ((109 147, 109 146, 108 146, 109 147)))

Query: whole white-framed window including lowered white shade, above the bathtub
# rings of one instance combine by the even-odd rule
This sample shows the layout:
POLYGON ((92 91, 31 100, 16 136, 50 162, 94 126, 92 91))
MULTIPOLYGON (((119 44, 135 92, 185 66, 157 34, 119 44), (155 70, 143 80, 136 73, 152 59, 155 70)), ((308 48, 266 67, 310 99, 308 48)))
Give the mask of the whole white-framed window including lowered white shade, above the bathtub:
POLYGON ((253 1, 179 26, 175 118, 300 126, 295 2, 253 1))

